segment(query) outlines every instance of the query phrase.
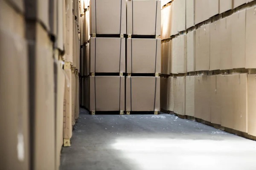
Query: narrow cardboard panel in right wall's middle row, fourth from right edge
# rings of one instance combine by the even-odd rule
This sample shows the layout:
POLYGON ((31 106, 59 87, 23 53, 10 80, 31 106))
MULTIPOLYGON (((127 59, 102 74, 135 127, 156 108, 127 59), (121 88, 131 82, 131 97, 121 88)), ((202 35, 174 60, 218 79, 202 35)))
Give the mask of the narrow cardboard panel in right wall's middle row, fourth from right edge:
POLYGON ((220 69, 221 37, 220 21, 210 24, 210 70, 220 69))

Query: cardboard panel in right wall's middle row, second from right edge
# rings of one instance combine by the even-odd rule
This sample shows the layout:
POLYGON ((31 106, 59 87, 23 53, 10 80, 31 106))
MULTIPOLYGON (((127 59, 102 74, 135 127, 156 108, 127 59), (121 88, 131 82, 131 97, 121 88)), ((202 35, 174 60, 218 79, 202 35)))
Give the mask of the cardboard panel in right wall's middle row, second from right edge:
POLYGON ((245 16, 246 9, 231 16, 232 68, 245 68, 245 16))

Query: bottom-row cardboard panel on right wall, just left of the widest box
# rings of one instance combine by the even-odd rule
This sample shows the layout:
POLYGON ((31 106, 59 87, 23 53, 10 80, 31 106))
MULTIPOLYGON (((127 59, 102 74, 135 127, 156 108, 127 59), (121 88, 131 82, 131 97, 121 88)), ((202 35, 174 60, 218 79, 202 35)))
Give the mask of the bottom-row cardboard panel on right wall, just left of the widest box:
POLYGON ((211 122, 210 76, 195 76, 195 117, 211 122))

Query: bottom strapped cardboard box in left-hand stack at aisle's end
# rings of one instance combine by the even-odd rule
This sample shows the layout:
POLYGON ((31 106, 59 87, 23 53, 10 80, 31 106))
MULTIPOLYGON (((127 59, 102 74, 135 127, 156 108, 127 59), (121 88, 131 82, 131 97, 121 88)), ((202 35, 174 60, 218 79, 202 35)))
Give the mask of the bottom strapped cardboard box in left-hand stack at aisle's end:
POLYGON ((89 77, 90 111, 124 111, 125 77, 89 77))

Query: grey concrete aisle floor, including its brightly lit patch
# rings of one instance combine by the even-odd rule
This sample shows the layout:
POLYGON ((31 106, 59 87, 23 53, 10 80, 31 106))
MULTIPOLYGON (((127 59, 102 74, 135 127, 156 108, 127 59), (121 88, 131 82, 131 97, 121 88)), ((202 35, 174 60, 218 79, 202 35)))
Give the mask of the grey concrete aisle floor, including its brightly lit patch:
POLYGON ((256 142, 198 122, 80 112, 61 170, 256 170, 256 142))

